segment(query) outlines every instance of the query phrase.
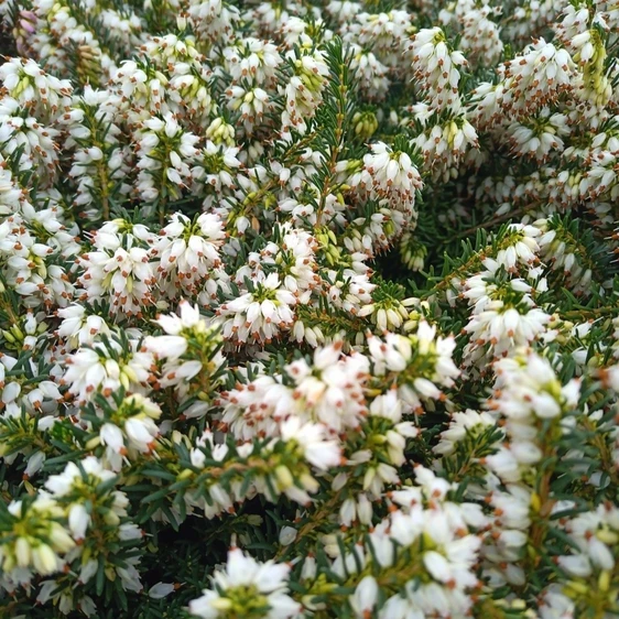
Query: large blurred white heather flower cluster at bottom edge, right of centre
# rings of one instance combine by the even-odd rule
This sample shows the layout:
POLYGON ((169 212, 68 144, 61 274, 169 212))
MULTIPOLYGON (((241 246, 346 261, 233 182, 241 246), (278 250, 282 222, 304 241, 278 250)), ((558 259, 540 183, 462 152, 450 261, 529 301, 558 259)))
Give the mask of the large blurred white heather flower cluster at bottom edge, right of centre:
MULTIPOLYGON (((394 502, 402 508, 393 509, 363 544, 338 556, 333 569, 337 574, 350 575, 362 569, 390 569, 399 561, 405 561, 409 566, 414 562, 417 569, 426 574, 424 584, 415 588, 405 587, 401 594, 389 597, 378 616, 384 619, 406 617, 408 613, 422 617, 438 609, 465 615, 470 606, 465 591, 477 586, 473 566, 481 546, 474 529, 482 528, 486 519, 474 503, 459 506, 448 501, 446 493, 452 486, 445 480, 423 467, 416 467, 415 473, 416 486, 391 493, 394 502), (419 547, 422 536, 430 547, 424 544, 427 547, 424 552, 409 554, 408 549, 419 547), (395 540, 397 545, 393 544, 395 540)), ((360 579, 350 599, 354 609, 359 605, 376 604, 374 585, 367 577, 360 579)))

